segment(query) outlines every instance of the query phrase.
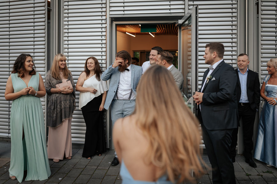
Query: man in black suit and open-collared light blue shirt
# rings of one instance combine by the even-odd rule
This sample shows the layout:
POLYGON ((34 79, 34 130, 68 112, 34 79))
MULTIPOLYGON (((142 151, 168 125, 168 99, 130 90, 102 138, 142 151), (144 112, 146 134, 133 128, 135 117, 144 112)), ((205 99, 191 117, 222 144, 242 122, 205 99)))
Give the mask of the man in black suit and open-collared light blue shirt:
MULTIPOLYGON (((239 119, 243 120, 243 144, 245 162, 251 167, 257 167, 253 161, 253 129, 256 112, 260 105, 260 82, 257 72, 248 69, 249 57, 247 54, 240 54, 237 59, 237 103, 239 111, 239 119)), ((235 128, 232 133, 231 156, 232 162, 235 162, 237 134, 238 129, 235 128)))

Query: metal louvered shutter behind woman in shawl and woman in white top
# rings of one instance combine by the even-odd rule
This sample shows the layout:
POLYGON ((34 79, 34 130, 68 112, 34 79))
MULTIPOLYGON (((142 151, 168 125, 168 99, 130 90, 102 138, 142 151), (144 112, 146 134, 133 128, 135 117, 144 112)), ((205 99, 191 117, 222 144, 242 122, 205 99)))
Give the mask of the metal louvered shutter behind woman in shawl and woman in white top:
MULTIPOLYGON (((106 69, 106 0, 64 0, 63 8, 63 52, 76 85, 88 57, 96 57, 102 71, 106 69)), ((85 142, 86 124, 79 110, 79 94, 76 91, 71 124, 73 143, 85 142)))

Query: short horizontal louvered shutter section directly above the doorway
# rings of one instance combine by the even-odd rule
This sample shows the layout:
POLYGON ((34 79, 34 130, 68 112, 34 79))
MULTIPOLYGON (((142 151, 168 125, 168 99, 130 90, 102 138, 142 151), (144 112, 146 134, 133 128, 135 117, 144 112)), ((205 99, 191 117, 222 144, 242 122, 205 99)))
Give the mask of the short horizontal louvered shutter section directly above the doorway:
POLYGON ((110 16, 131 14, 181 14, 185 13, 184 0, 149 1, 149 0, 110 0, 110 16))

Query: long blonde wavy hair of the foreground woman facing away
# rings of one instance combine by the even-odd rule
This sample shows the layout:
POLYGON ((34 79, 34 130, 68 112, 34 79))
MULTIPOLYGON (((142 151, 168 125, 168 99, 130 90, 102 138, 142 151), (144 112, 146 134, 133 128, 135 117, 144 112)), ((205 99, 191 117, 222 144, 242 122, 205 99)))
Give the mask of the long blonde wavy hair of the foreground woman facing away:
POLYGON ((159 176, 167 174, 175 183, 193 181, 191 169, 203 173, 199 122, 165 67, 154 65, 143 74, 134 114, 137 126, 149 140, 145 162, 159 167, 159 176))

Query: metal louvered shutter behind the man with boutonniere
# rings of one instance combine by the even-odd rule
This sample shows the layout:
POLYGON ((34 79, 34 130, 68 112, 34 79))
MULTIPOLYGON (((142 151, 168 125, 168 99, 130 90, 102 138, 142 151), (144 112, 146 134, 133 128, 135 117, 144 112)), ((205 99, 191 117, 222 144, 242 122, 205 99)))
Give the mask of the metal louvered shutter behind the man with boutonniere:
POLYGON ((205 45, 220 42, 225 47, 224 61, 237 67, 237 1, 199 1, 189 0, 188 8, 198 5, 198 85, 199 89, 203 74, 209 67, 203 58, 205 45))

